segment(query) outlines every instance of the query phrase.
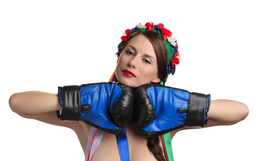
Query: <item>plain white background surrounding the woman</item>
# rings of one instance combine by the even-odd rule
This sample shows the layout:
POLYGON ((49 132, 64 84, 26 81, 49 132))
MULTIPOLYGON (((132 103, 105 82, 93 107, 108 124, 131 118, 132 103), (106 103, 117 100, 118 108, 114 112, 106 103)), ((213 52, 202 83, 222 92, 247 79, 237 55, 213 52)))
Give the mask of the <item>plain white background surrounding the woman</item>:
POLYGON ((255 5, 252 0, 1 0, 0 160, 83 161, 75 132, 12 112, 13 93, 109 81, 125 29, 163 23, 181 57, 166 86, 231 99, 244 121, 178 132, 175 161, 255 161, 255 5))

